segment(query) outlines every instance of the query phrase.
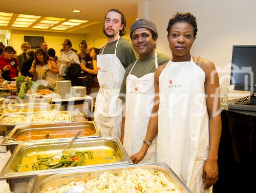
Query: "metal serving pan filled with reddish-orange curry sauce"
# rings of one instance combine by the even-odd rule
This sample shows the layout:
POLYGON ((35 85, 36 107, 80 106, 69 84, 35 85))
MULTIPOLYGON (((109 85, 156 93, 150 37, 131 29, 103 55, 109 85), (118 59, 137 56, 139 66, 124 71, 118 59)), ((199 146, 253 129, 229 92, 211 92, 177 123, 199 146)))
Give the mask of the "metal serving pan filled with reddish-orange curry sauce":
POLYGON ((1 145, 8 145, 9 149, 14 149, 18 144, 71 140, 80 130, 83 133, 80 134, 79 139, 102 136, 99 127, 94 121, 45 123, 14 127, 1 145), (47 138, 47 134, 49 134, 50 139, 47 138))

